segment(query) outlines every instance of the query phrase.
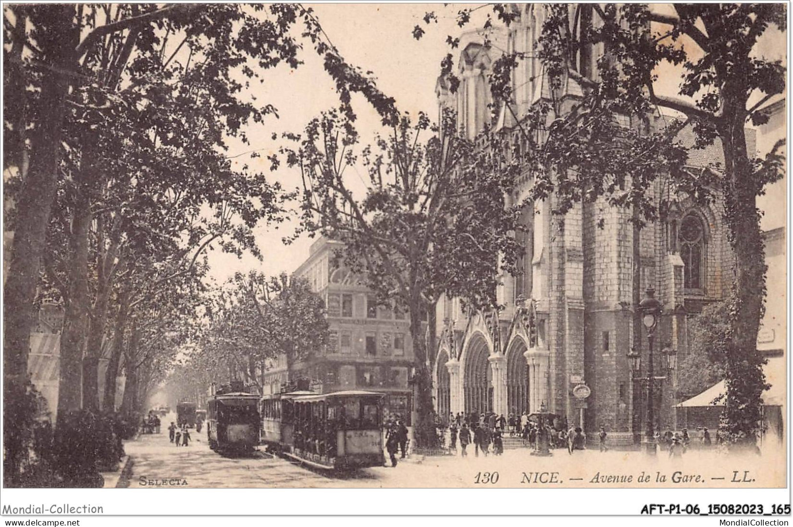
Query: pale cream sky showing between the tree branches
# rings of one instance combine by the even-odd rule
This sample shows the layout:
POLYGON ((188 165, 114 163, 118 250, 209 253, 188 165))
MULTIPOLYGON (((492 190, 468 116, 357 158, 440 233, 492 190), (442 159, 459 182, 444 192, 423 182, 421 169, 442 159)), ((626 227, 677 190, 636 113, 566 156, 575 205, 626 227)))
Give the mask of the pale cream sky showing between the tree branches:
MULTIPOLYGON (((316 17, 339 52, 354 66, 364 71, 372 71, 377 77, 380 89, 397 101, 402 111, 416 114, 427 113, 431 118, 437 115, 435 101, 435 81, 439 74, 441 59, 450 52, 446 36, 459 36, 463 31, 456 25, 455 15, 461 5, 450 4, 317 4, 312 5, 316 17), (429 26, 422 21, 424 13, 433 10, 438 14, 438 22, 429 26), (415 25, 421 25, 427 33, 421 40, 412 36, 415 25)), ((665 11, 671 6, 653 6, 665 11)), ((477 16, 465 29, 477 27, 477 16)), ((780 46, 778 36, 769 38, 761 46, 761 53, 774 58, 786 59, 786 49, 780 46)), ((229 139, 229 156, 239 166, 247 163, 251 169, 269 172, 270 162, 266 155, 277 151, 278 142, 271 139, 273 132, 301 132, 313 117, 338 105, 335 87, 330 76, 324 71, 320 57, 310 44, 302 53, 305 61, 297 70, 278 67, 263 75, 265 82, 257 83, 255 94, 258 101, 269 103, 278 109, 279 118, 268 117, 263 124, 248 128, 250 145, 229 139), (245 154, 257 151, 259 158, 245 154)), ((459 53, 456 50, 455 55, 459 53)), ((456 58, 456 57, 455 57, 456 58)), ((676 94, 680 85, 680 69, 668 68, 659 73, 657 92, 676 94)), ((379 117, 362 97, 354 96, 354 108, 358 113, 358 132, 361 142, 370 143, 376 132, 381 131, 379 117)), ((362 174, 365 175, 365 174, 362 174)), ((300 185, 296 173, 282 164, 276 173, 269 175, 272 181, 279 181, 286 189, 300 185)), ((292 216, 296 216, 293 214, 292 216)), ((292 272, 308 257, 308 247, 312 243, 306 235, 289 246, 282 243, 282 237, 293 234, 295 221, 286 221, 278 228, 260 224, 255 229, 259 247, 262 250, 261 262, 250 254, 237 258, 215 250, 209 254, 212 267, 211 276, 216 281, 225 281, 237 271, 255 269, 268 275, 282 271, 292 272)))

